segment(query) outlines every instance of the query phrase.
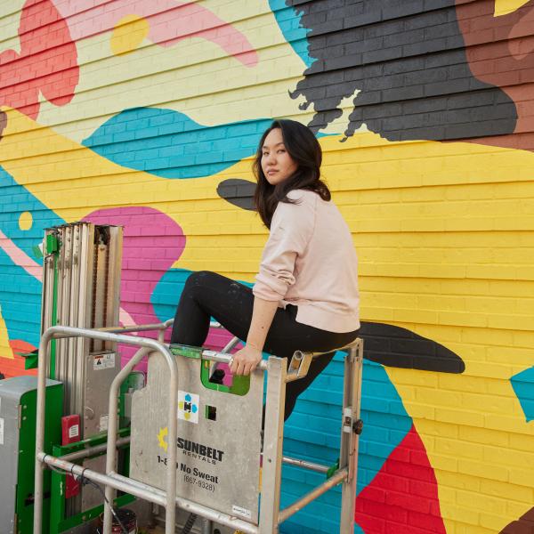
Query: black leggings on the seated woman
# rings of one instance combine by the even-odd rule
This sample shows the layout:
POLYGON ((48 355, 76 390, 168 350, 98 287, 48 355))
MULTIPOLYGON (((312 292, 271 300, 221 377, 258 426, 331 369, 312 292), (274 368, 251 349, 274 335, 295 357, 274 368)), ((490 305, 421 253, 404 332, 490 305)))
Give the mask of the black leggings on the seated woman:
MULTIPOLYGON (((254 295, 250 287, 215 272, 195 272, 183 288, 171 343, 202 346, 206 341, 210 317, 220 322, 233 336, 246 340, 253 306, 254 295)), ((263 346, 264 352, 290 358, 296 350, 325 352, 349 344, 358 336, 358 330, 339 334, 303 325, 296 322, 296 312, 297 307, 291 304, 285 310, 277 310, 263 346)), ((287 384, 285 419, 295 408, 297 397, 327 367, 334 354, 330 352, 319 356, 312 361, 306 376, 287 384)))

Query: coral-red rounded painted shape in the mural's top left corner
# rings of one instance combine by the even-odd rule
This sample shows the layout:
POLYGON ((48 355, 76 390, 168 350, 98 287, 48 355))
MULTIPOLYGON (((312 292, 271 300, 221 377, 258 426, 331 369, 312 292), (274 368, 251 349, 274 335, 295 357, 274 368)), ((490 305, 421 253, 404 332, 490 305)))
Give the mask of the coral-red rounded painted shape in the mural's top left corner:
POLYGON ((72 100, 79 79, 76 44, 51 0, 28 0, 20 14, 20 54, 0 53, 0 105, 35 119, 39 92, 56 106, 72 100))

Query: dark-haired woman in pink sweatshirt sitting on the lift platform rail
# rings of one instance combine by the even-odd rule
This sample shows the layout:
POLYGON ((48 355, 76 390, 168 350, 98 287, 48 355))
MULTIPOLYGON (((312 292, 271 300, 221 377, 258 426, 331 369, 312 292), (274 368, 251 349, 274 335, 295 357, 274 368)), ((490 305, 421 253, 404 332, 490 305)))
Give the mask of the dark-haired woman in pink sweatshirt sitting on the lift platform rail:
MULTIPOLYGON (((214 272, 191 274, 171 343, 201 346, 213 317, 247 340, 233 355, 231 372, 248 375, 263 351, 290 358, 296 350, 326 352, 356 338, 357 258, 351 233, 320 180, 321 159, 308 127, 286 119, 271 124, 254 163, 255 206, 270 229, 255 286, 214 272)), ((307 376, 287 384, 286 419, 333 356, 313 360, 307 376)))

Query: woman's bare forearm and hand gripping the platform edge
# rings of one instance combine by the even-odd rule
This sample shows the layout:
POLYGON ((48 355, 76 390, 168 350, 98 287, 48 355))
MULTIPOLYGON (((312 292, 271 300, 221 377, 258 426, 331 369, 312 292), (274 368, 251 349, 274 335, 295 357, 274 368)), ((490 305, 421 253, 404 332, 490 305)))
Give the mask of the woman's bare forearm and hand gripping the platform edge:
POLYGON ((263 345, 277 308, 278 301, 267 301, 255 296, 247 344, 233 355, 232 375, 249 375, 262 360, 263 345))

